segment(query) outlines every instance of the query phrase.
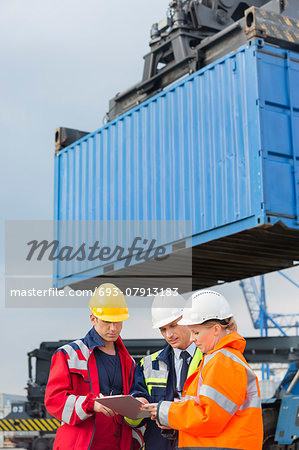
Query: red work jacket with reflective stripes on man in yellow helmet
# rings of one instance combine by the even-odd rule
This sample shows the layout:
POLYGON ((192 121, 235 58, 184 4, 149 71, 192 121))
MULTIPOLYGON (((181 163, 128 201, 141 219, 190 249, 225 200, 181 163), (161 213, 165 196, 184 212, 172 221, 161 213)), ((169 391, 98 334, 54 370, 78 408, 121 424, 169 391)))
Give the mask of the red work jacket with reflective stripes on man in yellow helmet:
MULTIPOLYGON (((119 442, 122 450, 132 446, 132 429, 119 415, 106 417, 94 413, 94 399, 100 394, 99 376, 93 349, 104 343, 92 328, 83 339, 60 347, 52 357, 45 393, 48 412, 62 422, 57 430, 55 450, 87 450, 91 444, 106 448, 105 442, 119 442), (92 443, 95 428, 103 435, 103 443, 92 443)), ((119 337, 116 341, 122 367, 123 391, 128 394, 133 381, 134 361, 119 337)), ((98 433, 97 433, 98 435, 98 433)), ((139 436, 138 436, 139 438, 139 436)), ((136 442, 136 441, 134 441, 136 442)), ((136 448, 140 448, 140 445, 136 448)))

